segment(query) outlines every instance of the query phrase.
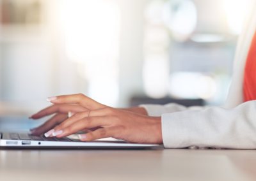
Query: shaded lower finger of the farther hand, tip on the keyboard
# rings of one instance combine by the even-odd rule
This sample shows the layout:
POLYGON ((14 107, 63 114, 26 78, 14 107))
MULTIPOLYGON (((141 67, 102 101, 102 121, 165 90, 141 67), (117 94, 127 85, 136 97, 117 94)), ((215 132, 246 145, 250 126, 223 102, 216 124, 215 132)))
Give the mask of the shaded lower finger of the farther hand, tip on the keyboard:
POLYGON ((55 127, 56 124, 60 124, 61 122, 63 122, 67 118, 68 118, 67 114, 60 114, 60 113, 58 113, 58 114, 54 115, 51 119, 47 120, 47 122, 42 124, 42 126, 39 126, 36 129, 33 129, 31 131, 31 134, 33 134, 33 135, 43 134, 46 131, 49 131, 50 129, 55 127))

